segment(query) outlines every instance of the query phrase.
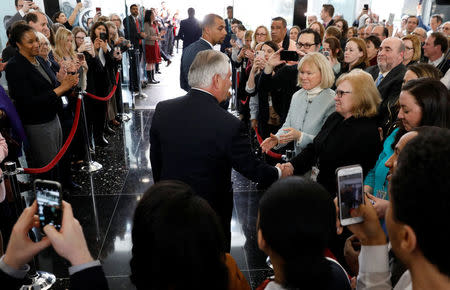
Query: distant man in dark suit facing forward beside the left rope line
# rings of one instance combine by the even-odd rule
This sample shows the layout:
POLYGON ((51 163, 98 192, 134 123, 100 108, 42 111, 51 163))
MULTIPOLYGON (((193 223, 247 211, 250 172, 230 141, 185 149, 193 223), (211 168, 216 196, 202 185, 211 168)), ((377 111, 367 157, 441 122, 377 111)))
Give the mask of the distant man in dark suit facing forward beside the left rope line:
POLYGON ((141 22, 139 21, 139 9, 136 4, 132 4, 130 6, 130 14, 123 20, 123 27, 125 32, 125 38, 128 39, 133 45, 134 50, 138 49, 138 59, 136 60, 135 51, 130 50, 130 91, 137 92, 139 91, 139 83, 138 83, 138 70, 136 66, 136 62, 141 62, 142 56, 142 39, 145 38, 145 33, 143 32, 143 27, 141 27, 141 22))

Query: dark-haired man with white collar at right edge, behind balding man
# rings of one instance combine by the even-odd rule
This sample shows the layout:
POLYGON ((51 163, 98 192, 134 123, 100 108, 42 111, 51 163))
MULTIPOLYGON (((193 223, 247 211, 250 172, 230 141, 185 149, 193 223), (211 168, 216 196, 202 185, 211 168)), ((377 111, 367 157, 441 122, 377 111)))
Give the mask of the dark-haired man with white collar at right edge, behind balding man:
POLYGON ((423 45, 423 53, 428 58, 428 63, 435 66, 445 75, 450 68, 450 60, 447 58, 447 37, 440 32, 433 32, 427 37, 423 45))

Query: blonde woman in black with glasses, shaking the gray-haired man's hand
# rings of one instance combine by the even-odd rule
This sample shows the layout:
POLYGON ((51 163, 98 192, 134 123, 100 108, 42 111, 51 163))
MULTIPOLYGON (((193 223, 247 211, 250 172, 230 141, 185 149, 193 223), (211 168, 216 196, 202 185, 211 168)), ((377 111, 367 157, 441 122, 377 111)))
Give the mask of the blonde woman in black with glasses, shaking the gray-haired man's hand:
POLYGON ((328 117, 312 143, 284 165, 291 166, 295 175, 311 169, 318 172, 312 175, 331 197, 336 195, 338 167, 360 164, 366 176, 381 150, 374 118, 381 97, 371 75, 355 69, 341 75, 336 84, 336 112, 328 117))

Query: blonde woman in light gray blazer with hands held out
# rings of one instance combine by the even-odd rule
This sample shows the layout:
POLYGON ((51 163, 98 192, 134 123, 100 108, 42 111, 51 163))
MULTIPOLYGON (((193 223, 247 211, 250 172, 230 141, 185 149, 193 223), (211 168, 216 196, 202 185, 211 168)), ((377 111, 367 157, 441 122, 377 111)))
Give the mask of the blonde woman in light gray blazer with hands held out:
POLYGON ((283 126, 261 143, 263 152, 294 141, 297 155, 311 143, 335 110, 335 93, 330 89, 333 83, 333 69, 326 57, 318 52, 305 55, 298 64, 298 85, 302 88, 292 96, 283 126))

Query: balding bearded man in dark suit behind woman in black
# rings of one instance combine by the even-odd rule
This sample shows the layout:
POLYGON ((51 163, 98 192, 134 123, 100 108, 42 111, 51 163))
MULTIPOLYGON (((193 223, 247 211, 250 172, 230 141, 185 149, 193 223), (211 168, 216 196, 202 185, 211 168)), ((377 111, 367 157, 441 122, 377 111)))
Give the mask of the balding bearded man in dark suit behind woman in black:
POLYGON ((397 120, 396 104, 406 73, 406 67, 402 64, 404 53, 405 45, 401 39, 388 37, 383 40, 378 51, 378 64, 366 69, 372 75, 381 95, 377 119, 384 137, 391 133, 392 125, 397 120))

